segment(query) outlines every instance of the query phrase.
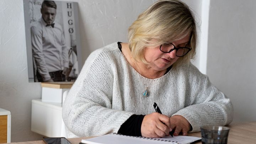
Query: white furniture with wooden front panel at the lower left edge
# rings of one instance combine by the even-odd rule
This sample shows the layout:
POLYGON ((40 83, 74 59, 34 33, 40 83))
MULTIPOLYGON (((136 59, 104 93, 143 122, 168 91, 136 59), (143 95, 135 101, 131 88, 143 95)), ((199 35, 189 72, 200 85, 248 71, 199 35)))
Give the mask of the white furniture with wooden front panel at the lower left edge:
POLYGON ((11 112, 0 108, 0 143, 11 142, 11 112))

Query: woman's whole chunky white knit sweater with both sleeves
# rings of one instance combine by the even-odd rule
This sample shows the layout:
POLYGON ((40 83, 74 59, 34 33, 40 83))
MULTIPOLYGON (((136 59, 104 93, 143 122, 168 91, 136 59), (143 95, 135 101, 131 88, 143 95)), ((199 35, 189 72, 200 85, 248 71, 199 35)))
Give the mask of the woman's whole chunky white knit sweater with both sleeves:
POLYGON ((230 99, 191 63, 148 79, 130 66, 113 43, 90 54, 66 97, 63 120, 68 137, 117 133, 132 114, 155 112, 154 102, 168 117, 185 117, 192 132, 233 119, 230 99), (143 97, 144 84, 150 84, 148 97, 143 97))

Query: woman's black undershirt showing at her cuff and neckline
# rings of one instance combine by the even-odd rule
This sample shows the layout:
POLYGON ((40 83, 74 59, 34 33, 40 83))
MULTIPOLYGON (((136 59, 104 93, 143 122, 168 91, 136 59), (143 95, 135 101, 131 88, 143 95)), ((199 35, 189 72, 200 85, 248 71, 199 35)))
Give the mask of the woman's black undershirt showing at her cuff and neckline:
MULTIPOLYGON (((117 44, 118 44, 118 48, 122 52, 121 42, 118 42, 117 44)), ((165 74, 167 74, 171 68, 172 66, 167 68, 165 74)), ((118 130, 118 133, 123 135, 131 135, 131 136, 142 136, 141 125, 142 125, 144 116, 145 115, 133 114, 121 125, 120 129, 118 130)))

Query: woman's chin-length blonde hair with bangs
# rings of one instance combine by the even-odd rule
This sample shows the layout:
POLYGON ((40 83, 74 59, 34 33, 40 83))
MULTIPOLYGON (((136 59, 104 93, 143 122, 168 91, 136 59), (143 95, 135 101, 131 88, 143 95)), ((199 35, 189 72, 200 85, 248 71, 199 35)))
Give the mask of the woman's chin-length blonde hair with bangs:
POLYGON ((128 44, 132 57, 148 63, 144 57, 145 47, 160 46, 190 34, 188 43, 192 50, 180 57, 173 65, 187 63, 194 58, 197 45, 197 31, 194 16, 189 7, 179 0, 159 0, 140 14, 128 29, 128 44), (152 39, 156 42, 150 43, 152 39))

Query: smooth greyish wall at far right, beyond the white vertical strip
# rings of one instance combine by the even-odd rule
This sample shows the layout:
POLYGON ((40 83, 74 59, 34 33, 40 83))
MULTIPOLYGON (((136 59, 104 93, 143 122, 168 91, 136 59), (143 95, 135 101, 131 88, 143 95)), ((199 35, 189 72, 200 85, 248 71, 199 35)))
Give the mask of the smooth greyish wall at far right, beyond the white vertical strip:
POLYGON ((256 121, 255 6, 210 1, 207 75, 233 102, 234 122, 256 121))

